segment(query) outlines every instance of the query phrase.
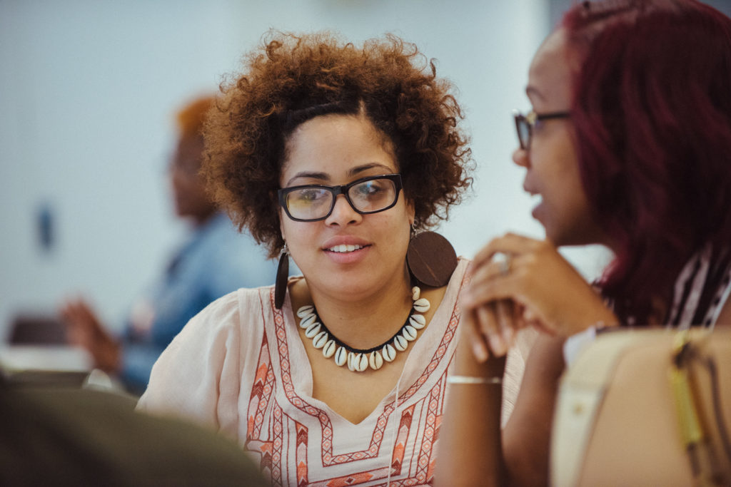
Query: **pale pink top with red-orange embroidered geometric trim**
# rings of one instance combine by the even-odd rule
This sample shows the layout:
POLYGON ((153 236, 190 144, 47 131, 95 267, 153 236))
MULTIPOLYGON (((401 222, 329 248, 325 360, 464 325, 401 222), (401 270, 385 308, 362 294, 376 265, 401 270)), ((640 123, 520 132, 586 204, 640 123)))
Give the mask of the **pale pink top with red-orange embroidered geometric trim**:
MULTIPOLYGON (((274 307, 273 287, 240 289, 193 318, 155 364, 138 408, 236 438, 273 485, 428 485, 467 264, 461 259, 431 323, 409 345, 395 388, 360 423, 311 396, 296 318, 289 299, 274 307)), ((518 348, 511 355, 504 420, 524 364, 518 348)))

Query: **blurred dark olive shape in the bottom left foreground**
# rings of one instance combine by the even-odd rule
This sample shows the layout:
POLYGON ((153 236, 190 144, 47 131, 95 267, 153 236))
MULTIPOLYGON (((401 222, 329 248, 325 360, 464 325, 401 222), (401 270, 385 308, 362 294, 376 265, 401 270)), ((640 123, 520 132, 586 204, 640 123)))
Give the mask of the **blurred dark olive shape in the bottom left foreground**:
POLYGON ((265 485, 219 434, 137 413, 133 396, 37 384, 0 375, 1 486, 265 485))

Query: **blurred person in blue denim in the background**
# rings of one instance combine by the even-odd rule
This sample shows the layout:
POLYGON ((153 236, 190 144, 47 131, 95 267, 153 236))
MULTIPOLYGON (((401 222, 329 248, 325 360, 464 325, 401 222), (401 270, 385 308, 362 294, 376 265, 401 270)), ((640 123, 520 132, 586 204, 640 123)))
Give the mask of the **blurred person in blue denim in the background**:
POLYGON ((253 239, 235 230, 208 198, 198 174, 202 122, 213 101, 213 96, 195 99, 177 114, 170 183, 177 215, 191 223, 192 231, 156 283, 133 304, 121 336, 110 332, 85 299, 61 307, 69 342, 88 350, 96 369, 117 377, 133 394, 144 391, 159 354, 197 312, 237 288, 273 280, 274 264, 253 239))

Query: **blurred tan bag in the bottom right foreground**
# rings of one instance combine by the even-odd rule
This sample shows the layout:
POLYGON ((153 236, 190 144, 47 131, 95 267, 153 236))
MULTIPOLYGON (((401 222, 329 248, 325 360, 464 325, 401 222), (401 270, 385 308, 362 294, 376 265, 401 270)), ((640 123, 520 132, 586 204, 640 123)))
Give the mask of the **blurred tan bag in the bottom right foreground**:
POLYGON ((610 331, 561 379, 554 486, 731 486, 731 330, 610 331))

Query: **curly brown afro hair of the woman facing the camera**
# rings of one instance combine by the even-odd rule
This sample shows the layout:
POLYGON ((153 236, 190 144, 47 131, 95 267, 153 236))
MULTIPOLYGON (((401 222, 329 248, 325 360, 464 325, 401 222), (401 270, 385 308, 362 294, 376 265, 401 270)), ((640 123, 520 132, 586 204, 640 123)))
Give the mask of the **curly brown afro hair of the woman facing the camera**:
POLYGON ((451 88, 416 46, 393 35, 356 47, 330 32, 270 31, 244 57, 243 73, 221 83, 208 113, 208 191, 275 257, 284 246, 276 190, 287 137, 318 115, 362 113, 393 142, 414 226, 434 226, 461 201, 474 165, 451 88))

